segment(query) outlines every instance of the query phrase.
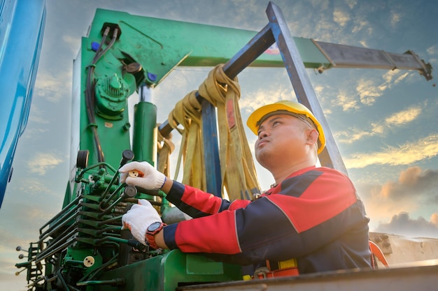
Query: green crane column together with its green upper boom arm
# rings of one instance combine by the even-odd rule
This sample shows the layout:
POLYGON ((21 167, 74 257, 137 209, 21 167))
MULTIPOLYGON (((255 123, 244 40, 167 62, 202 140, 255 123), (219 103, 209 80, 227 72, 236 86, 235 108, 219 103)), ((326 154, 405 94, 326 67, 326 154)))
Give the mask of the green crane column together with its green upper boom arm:
MULTIPOLYGON (((88 84, 86 77, 80 78, 80 149, 90 151, 89 163, 101 162, 98 158, 100 147, 104 161, 117 167, 119 153, 131 148, 127 98, 140 84, 155 87, 176 66, 215 66, 225 63, 255 34, 256 31, 97 9, 89 35, 82 40, 80 52, 80 75, 86 76, 92 71, 88 84), (101 49, 108 50, 97 61, 93 61, 106 27, 109 33, 101 49), (111 45, 115 29, 118 29, 117 40, 111 45), (84 101, 87 89, 92 90, 95 96, 91 106, 84 101), (87 117, 87 107, 94 114, 93 122, 87 117), (94 129, 97 135, 93 134, 94 129), (99 146, 96 145, 96 138, 100 140, 99 146)), ((330 66, 330 62, 311 40, 296 38, 296 42, 306 66, 330 66)), ((281 67, 283 61, 276 47, 271 47, 251 66, 281 67)), ((143 106, 146 105, 139 104, 137 110, 153 112, 143 106)), ((147 133, 144 133, 141 119, 143 117, 139 117, 135 126, 140 128, 134 128, 135 159, 154 163, 155 151, 150 137, 154 138, 156 133, 149 133, 150 128, 146 128, 147 133), (136 140, 139 136, 140 139, 136 140)), ((147 127, 155 125, 152 116, 148 117, 146 124, 147 127)))

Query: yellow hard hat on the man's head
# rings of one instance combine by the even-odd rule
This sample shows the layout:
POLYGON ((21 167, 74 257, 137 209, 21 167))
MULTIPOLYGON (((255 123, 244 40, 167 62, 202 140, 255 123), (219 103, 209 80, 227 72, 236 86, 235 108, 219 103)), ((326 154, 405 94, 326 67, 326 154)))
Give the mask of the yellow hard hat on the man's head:
POLYGON ((316 130, 318 130, 319 136, 318 136, 318 154, 323 151, 325 147, 325 136, 324 136, 324 130, 323 126, 319 123, 318 119, 313 116, 312 112, 301 103, 289 101, 289 100, 282 100, 278 101, 276 103, 264 105, 248 117, 248 121, 246 121, 246 125, 250 130, 257 135, 257 130, 260 125, 260 121, 264 119, 264 117, 276 114, 276 111, 278 111, 278 114, 288 114, 288 112, 303 115, 310 119, 313 124, 316 127, 316 130))

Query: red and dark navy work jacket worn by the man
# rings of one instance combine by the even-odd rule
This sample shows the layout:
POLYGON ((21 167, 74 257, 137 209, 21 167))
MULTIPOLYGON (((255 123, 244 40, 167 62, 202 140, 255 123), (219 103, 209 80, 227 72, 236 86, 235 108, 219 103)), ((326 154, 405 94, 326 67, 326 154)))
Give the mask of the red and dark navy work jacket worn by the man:
POLYGON ((175 181, 167 200, 197 218, 164 227, 171 249, 238 264, 296 258, 300 274, 371 267, 369 218, 337 170, 299 170, 252 202, 175 181))

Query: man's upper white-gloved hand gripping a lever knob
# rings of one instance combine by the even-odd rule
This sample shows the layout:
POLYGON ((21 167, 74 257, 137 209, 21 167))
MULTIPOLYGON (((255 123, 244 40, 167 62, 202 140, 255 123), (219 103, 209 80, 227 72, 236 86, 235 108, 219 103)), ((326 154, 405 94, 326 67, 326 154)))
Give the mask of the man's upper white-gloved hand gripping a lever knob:
POLYGON ((127 163, 123 167, 120 167, 120 182, 126 183, 131 186, 139 186, 147 190, 159 190, 166 181, 166 176, 163 173, 155 170, 155 167, 148 162, 131 162, 127 163), (129 177, 128 172, 137 170, 141 172, 142 176, 129 177))

